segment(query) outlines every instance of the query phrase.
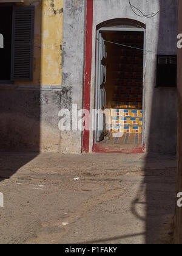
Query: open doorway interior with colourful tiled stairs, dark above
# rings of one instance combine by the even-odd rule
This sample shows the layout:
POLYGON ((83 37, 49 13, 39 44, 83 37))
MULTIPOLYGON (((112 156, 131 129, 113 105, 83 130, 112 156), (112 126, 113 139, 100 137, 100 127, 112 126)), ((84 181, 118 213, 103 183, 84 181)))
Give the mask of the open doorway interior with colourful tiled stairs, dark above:
POLYGON ((107 132, 123 134, 113 143, 141 144, 144 33, 107 30, 102 35, 107 52, 106 108, 111 109, 107 132))

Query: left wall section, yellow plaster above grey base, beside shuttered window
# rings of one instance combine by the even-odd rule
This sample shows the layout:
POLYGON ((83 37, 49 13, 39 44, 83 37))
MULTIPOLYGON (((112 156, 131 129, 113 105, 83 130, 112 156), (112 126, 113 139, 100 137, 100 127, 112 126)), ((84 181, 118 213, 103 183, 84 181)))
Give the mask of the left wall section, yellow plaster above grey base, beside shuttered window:
POLYGON ((0 150, 60 151, 63 0, 25 0, 35 5, 32 82, 0 85, 0 150))

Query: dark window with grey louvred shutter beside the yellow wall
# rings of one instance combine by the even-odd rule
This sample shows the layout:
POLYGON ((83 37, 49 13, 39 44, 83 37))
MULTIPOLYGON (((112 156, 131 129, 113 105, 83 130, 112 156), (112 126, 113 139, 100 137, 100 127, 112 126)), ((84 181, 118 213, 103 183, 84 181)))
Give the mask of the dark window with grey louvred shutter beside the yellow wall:
POLYGON ((33 80, 34 6, 0 5, 0 82, 33 80))

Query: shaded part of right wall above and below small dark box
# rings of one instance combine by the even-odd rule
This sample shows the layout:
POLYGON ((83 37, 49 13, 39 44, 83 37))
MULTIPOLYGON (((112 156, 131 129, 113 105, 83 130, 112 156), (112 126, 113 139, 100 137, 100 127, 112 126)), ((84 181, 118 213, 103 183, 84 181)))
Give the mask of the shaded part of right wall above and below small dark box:
MULTIPOLYGON (((162 11, 159 14, 157 54, 177 55, 177 0, 160 0, 160 10, 162 11)), ((177 89, 173 87, 155 88, 155 85, 156 82, 154 81, 153 91, 151 92, 153 96, 150 116, 149 150, 162 154, 176 154, 177 89), (153 141, 155 141, 155 144, 153 144, 153 141)))

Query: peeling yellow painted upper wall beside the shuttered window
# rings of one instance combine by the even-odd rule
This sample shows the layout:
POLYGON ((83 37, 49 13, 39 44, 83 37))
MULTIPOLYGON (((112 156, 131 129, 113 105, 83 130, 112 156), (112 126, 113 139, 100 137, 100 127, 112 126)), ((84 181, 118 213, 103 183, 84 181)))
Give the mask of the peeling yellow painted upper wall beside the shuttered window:
POLYGON ((33 82, 21 84, 61 85, 63 0, 25 0, 20 5, 35 5, 33 82))

